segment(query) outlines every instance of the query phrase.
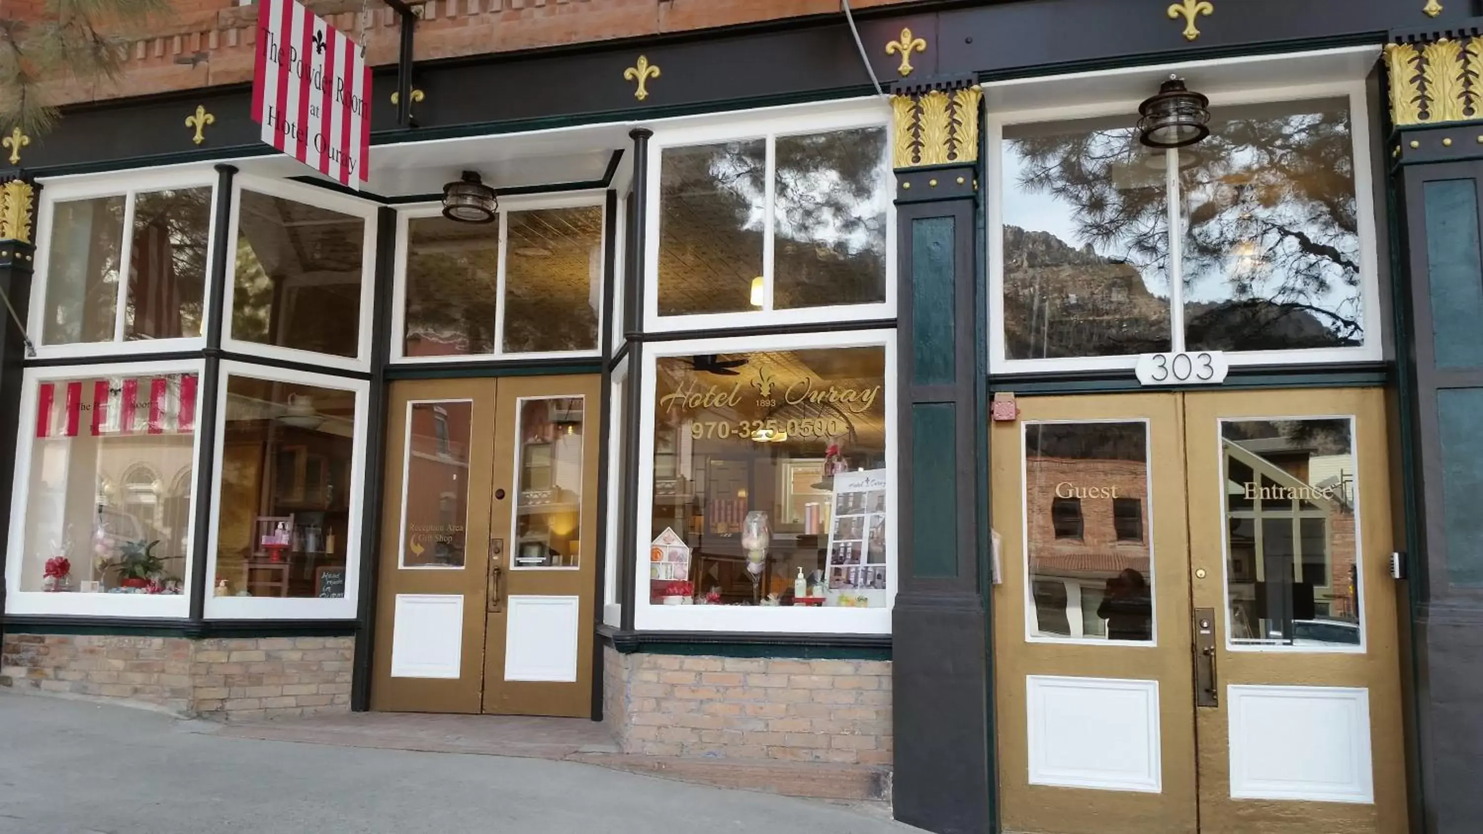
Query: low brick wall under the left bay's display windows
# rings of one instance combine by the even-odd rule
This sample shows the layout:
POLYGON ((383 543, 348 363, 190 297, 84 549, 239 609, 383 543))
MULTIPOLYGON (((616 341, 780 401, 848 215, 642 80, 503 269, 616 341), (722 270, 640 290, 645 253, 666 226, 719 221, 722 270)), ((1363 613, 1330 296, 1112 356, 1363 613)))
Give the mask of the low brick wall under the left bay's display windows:
POLYGON ((350 710, 353 637, 6 634, 0 686, 252 720, 350 710))

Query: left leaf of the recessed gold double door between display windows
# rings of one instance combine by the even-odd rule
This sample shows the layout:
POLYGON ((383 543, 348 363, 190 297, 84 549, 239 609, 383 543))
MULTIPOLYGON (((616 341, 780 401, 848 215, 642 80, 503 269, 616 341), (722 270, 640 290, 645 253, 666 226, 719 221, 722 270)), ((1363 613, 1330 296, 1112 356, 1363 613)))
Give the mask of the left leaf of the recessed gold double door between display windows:
POLYGON ((494 379, 393 382, 371 708, 483 704, 494 379))

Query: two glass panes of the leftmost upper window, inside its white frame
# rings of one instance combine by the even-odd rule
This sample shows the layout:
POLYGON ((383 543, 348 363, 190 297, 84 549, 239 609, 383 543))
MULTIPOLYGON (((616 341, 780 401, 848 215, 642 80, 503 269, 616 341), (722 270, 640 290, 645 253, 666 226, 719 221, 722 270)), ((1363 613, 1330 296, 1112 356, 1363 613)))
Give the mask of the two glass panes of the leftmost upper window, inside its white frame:
POLYGON ((42 341, 200 336, 211 204, 211 187, 52 203, 42 341))

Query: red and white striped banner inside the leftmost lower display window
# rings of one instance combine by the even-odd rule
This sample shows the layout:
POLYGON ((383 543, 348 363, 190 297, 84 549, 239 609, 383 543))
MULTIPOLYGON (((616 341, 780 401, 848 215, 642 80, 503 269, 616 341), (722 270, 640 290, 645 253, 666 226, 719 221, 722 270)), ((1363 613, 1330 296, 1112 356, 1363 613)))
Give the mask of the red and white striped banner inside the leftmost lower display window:
POLYGON ((36 396, 36 436, 93 437, 190 434, 196 431, 194 373, 113 376, 42 382, 36 396))

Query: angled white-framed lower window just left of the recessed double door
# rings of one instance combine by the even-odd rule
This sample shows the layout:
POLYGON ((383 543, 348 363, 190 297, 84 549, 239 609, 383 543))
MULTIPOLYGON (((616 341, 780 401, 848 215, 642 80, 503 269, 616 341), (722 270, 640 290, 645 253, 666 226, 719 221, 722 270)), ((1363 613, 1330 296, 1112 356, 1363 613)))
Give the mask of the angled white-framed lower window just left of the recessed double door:
POLYGON ((222 363, 211 618, 351 618, 366 384, 222 363))

